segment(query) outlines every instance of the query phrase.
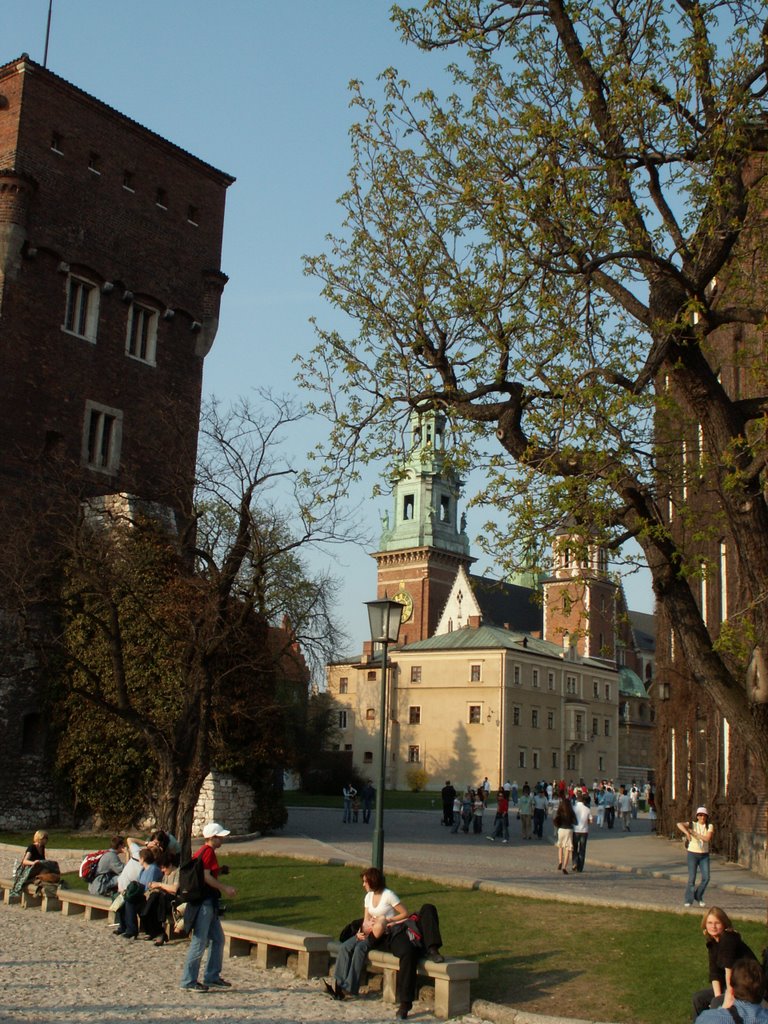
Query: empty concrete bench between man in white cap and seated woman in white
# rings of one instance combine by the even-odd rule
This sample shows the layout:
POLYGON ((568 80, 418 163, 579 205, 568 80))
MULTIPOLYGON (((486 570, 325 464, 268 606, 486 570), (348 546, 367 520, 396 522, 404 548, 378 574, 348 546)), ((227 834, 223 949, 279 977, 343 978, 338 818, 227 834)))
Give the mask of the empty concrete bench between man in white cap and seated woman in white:
POLYGON ((328 974, 330 935, 300 932, 256 921, 221 922, 225 956, 254 956, 262 969, 285 967, 292 953, 298 954, 296 974, 300 978, 322 978, 328 974))

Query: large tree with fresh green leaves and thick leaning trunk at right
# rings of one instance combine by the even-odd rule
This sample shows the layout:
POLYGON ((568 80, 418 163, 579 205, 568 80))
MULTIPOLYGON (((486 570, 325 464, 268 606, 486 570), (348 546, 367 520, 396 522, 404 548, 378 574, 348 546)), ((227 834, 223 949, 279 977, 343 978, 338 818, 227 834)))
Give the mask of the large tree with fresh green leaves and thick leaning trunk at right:
POLYGON ((764 4, 393 16, 457 54, 455 90, 352 84, 343 228, 306 260, 355 328, 318 328, 302 368, 328 465, 391 456, 407 413, 438 408, 509 514, 485 526, 503 563, 568 516, 616 552, 634 538, 691 678, 768 774, 744 686, 768 643, 764 4), (718 636, 698 598, 723 537, 740 589, 718 636))

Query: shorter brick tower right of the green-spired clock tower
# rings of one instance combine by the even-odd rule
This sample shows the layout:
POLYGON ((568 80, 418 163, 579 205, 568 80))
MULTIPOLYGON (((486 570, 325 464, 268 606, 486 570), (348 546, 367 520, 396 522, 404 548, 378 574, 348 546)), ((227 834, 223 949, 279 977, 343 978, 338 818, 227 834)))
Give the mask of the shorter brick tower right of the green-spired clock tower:
POLYGON ((584 657, 616 658, 616 585, 608 553, 570 523, 555 534, 553 571, 543 582, 544 639, 572 644, 584 657))

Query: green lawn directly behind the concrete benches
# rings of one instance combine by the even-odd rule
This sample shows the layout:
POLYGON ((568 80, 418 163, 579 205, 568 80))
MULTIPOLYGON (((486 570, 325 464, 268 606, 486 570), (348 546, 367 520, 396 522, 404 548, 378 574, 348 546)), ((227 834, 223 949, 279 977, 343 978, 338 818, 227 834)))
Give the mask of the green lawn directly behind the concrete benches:
MULTIPOLYGON (((337 936, 359 916, 359 871, 223 851, 238 889, 231 918, 337 936)), ((68 876, 75 888, 82 880, 68 876)), ((699 914, 589 907, 454 889, 391 874, 410 909, 435 903, 445 952, 480 964, 473 996, 517 1010, 627 1024, 687 1024, 707 985, 699 914)), ((736 926, 759 952, 764 928, 736 926)))

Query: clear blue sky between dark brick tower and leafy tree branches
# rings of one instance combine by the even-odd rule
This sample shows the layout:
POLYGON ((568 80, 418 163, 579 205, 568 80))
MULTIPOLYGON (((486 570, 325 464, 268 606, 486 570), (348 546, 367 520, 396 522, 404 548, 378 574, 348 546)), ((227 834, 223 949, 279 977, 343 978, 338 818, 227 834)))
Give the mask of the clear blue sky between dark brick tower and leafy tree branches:
MULTIPOLYGON (((238 179, 227 198, 221 265, 229 283, 206 360, 208 394, 295 392, 292 357, 314 340, 308 319, 330 323, 301 256, 321 251, 339 223, 348 83, 361 79, 373 90, 389 66, 414 85, 443 80, 445 55, 403 46, 388 10, 386 0, 53 0, 52 72, 238 179)), ((22 52, 42 62, 47 11, 48 0, 3 0, 0 62, 22 52)), ((350 494, 354 504, 369 497, 365 484, 350 494)), ((367 505, 374 542, 385 507, 367 505)), ((364 549, 337 556, 340 618, 359 649, 376 567, 364 549)), ((627 589, 631 607, 651 609, 647 581, 627 589)))

